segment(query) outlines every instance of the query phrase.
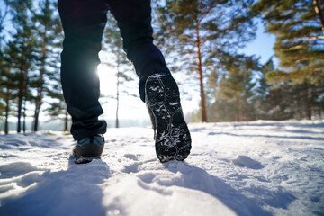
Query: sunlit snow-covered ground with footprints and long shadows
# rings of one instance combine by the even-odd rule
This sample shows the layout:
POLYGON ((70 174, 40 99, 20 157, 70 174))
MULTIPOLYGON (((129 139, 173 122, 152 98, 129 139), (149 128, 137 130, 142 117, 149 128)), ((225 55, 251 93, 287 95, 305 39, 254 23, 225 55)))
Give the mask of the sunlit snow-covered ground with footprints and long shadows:
POLYGON ((191 124, 185 162, 149 128, 109 129, 76 165, 70 136, 0 135, 0 215, 324 215, 324 121, 191 124))

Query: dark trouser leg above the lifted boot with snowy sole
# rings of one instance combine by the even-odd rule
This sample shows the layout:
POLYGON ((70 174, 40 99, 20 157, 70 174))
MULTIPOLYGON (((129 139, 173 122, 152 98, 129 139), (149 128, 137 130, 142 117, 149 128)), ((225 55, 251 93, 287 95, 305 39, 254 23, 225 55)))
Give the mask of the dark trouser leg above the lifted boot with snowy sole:
POLYGON ((161 51, 153 44, 150 0, 107 0, 118 22, 123 48, 139 76, 140 99, 145 102, 148 76, 170 74, 161 51))

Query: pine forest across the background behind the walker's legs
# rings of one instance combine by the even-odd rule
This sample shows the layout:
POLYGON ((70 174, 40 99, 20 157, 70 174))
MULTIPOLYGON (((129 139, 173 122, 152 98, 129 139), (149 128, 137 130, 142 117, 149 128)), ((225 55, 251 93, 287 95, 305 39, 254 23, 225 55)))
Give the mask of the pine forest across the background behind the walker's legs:
MULTIPOLYGON (((0 118, 8 131, 39 130, 40 112, 69 117, 59 82, 63 40, 56 0, 0 0, 0 118), (45 104, 46 103, 46 104, 45 104), (30 110, 32 107, 32 110, 30 110)), ((152 0, 159 48, 185 87, 198 86, 201 109, 191 121, 253 121, 323 118, 324 7, 320 0, 152 0), (255 39, 257 21, 275 35, 275 58, 262 65, 256 56, 238 54, 255 39)), ((112 20, 112 19, 110 19, 112 20)), ((108 22, 103 49, 115 58, 118 86, 129 82, 115 22, 108 22)), ((265 44, 264 46, 269 46, 265 44)), ((118 105, 117 105, 118 107, 118 105)), ((118 110, 115 125, 118 127, 118 110)))

